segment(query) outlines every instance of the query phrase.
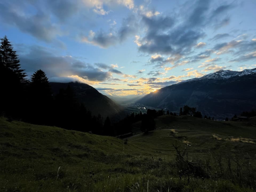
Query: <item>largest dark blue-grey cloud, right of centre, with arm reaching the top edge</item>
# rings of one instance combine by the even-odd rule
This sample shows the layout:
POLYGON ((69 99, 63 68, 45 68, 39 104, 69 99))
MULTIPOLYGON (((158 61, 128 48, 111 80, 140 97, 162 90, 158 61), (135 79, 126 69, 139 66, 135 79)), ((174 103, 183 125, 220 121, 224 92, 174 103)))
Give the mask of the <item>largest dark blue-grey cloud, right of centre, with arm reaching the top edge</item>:
POLYGON ((176 19, 170 16, 142 17, 147 33, 136 39, 139 51, 170 55, 189 53, 197 40, 205 35, 198 27, 204 25, 208 9, 209 1, 197 1, 187 19, 177 25, 174 25, 176 19))

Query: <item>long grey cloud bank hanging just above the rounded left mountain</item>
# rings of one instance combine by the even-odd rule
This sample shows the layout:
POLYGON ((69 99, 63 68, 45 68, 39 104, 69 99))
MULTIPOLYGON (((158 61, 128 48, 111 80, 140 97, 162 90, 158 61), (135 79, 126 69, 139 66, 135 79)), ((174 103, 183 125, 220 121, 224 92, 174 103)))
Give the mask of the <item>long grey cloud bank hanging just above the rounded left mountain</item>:
POLYGON ((26 73, 29 76, 34 71, 42 69, 49 78, 74 78, 77 75, 77 77, 87 81, 95 82, 102 82, 112 78, 110 71, 103 71, 102 68, 98 68, 98 66, 105 67, 105 64, 97 63, 96 65, 91 65, 68 55, 55 55, 54 50, 47 50, 46 47, 41 46, 25 46, 22 51, 19 53, 19 50, 17 50, 17 53, 19 53, 22 69, 26 69, 26 73))

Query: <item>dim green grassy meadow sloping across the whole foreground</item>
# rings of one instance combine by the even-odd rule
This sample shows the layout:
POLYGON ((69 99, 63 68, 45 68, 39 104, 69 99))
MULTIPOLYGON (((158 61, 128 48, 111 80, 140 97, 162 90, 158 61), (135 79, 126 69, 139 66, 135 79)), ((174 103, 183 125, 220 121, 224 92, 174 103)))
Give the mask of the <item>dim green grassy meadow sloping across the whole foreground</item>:
POLYGON ((256 190, 255 118, 155 121, 121 140, 0 118, 0 191, 256 190))

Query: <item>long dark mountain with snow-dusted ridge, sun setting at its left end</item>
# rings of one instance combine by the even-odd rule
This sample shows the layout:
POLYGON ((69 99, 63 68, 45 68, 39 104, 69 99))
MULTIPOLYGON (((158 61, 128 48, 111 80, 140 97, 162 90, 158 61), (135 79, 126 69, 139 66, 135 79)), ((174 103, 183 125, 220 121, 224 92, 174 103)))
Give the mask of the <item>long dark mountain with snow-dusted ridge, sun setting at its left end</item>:
POLYGON ((256 109, 256 68, 243 71, 220 70, 163 87, 138 102, 170 111, 188 105, 203 115, 233 117, 256 109))

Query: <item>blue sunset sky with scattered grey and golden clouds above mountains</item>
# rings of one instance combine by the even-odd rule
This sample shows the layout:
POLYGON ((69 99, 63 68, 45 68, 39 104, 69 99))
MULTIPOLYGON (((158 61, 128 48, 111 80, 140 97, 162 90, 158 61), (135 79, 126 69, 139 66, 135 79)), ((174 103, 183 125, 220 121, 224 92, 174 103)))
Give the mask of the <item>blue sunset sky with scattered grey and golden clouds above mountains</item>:
POLYGON ((2 0, 28 78, 143 95, 218 70, 256 68, 255 0, 2 0))

